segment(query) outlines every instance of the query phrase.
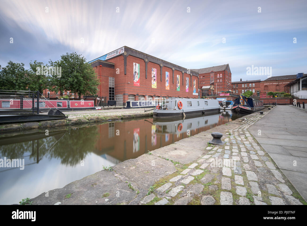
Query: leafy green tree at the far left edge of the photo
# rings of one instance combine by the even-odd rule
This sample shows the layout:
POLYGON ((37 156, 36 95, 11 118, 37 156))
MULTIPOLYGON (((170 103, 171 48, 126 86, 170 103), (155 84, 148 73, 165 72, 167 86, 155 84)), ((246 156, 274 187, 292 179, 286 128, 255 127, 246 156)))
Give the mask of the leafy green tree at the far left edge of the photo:
POLYGON ((7 66, 0 70, 0 89, 26 90, 28 78, 24 66, 23 63, 9 61, 7 66))

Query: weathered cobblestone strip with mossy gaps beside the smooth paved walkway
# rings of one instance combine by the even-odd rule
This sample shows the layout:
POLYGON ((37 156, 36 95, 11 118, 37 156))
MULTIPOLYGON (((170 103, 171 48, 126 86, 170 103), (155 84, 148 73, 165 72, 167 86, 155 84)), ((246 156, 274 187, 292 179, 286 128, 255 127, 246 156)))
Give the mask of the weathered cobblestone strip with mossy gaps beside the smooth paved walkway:
POLYGON ((292 184, 247 130, 263 116, 230 130, 223 146, 208 146, 200 159, 156 183, 149 204, 302 205, 292 184))

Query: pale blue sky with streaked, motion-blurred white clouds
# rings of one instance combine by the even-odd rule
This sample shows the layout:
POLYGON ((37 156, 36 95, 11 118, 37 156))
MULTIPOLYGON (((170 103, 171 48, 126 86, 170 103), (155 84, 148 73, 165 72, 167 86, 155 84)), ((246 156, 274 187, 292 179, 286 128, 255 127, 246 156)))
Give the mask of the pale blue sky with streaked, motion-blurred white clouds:
POLYGON ((265 80, 247 75, 252 65, 307 73, 306 11, 306 0, 2 0, 0 65, 72 52, 90 61, 128 46, 184 68, 229 64, 232 81, 265 80))

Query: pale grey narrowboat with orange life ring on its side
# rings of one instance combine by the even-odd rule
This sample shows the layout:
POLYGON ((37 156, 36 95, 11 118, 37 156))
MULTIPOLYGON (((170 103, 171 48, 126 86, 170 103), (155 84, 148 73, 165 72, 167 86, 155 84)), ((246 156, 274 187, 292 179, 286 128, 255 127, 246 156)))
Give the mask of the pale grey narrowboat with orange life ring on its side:
POLYGON ((170 97, 156 101, 155 106, 153 118, 195 116, 220 111, 216 99, 170 97))

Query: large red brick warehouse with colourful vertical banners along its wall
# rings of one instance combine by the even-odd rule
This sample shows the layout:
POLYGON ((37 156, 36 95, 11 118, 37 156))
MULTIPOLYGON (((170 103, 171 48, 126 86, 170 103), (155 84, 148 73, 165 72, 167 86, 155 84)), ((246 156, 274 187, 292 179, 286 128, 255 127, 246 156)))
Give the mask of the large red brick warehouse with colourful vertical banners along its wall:
POLYGON ((89 63, 100 81, 97 95, 117 105, 166 96, 198 98, 197 72, 127 46, 89 63))

